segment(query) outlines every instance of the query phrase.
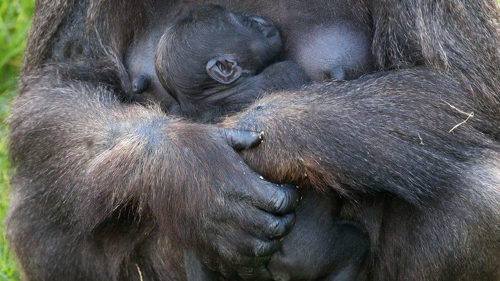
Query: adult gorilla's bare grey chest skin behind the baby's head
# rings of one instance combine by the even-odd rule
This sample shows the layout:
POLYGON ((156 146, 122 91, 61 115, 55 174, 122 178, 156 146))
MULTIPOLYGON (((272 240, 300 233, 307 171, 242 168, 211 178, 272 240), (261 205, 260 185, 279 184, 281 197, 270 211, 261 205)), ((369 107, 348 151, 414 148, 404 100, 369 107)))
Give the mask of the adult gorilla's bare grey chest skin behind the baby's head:
POLYGON ((370 61, 363 55, 353 55, 353 52, 368 53, 371 48, 366 4, 362 1, 157 1, 147 15, 149 25, 138 32, 129 46, 126 66, 131 77, 149 74, 152 78, 149 92, 170 99, 168 94, 162 94, 164 90, 154 68, 155 50, 161 35, 185 11, 201 4, 220 4, 233 12, 259 14, 273 20, 284 39, 283 59, 299 63, 311 78, 321 80, 325 68, 338 63, 342 57, 358 57, 363 60, 362 64, 370 61))

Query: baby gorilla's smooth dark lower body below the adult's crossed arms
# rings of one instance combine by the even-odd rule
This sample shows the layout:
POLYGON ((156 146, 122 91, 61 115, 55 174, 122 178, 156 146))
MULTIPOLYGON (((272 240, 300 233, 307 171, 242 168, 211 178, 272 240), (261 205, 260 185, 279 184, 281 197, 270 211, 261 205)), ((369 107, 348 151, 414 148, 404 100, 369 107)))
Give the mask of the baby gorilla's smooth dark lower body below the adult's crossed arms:
POLYGON ((341 202, 303 189, 294 228, 267 268, 278 280, 355 280, 370 249, 366 229, 339 221, 341 202))

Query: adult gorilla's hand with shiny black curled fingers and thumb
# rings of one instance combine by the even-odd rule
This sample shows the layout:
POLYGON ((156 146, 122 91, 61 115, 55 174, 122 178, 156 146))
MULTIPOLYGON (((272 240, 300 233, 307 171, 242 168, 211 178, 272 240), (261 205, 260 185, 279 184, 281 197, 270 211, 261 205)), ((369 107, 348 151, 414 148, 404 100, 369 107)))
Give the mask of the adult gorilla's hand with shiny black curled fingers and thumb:
POLYGON ((222 144, 212 149, 212 171, 194 179, 211 186, 186 246, 195 246, 201 261, 225 277, 266 276, 265 263, 294 224, 298 192, 263 180, 234 152, 259 145, 260 133, 218 128, 214 138, 222 144))

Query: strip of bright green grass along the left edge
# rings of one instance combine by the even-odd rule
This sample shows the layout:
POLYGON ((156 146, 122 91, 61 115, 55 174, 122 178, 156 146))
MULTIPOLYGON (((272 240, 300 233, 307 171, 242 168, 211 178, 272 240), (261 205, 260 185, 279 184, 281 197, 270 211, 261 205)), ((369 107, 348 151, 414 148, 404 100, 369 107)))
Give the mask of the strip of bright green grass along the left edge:
MULTIPOLYGON (((9 203, 7 160, 7 116, 17 94, 17 77, 22 65, 34 0, 0 0, 0 221, 9 203)), ((18 280, 14 257, 8 249, 3 227, 0 230, 0 280, 18 280)))

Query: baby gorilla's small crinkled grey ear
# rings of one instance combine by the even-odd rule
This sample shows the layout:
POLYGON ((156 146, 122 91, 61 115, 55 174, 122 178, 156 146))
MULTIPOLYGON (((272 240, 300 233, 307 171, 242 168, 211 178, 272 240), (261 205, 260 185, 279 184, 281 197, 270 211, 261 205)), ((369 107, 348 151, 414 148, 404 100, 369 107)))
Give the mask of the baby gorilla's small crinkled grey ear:
POLYGON ((206 63, 206 73, 215 81, 228 85, 240 78, 243 69, 231 55, 223 55, 206 63))

